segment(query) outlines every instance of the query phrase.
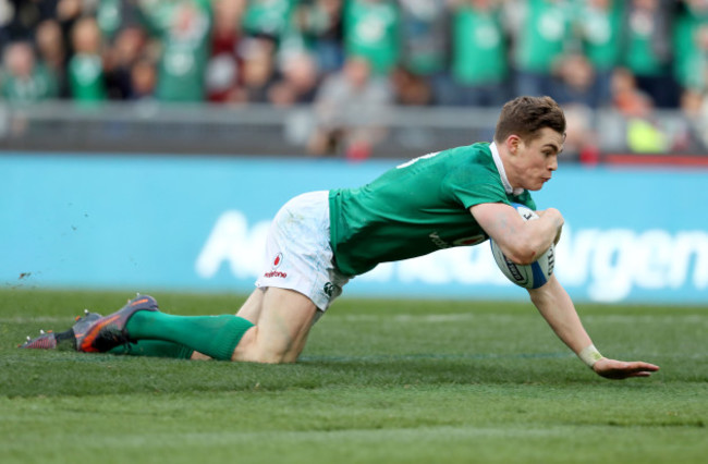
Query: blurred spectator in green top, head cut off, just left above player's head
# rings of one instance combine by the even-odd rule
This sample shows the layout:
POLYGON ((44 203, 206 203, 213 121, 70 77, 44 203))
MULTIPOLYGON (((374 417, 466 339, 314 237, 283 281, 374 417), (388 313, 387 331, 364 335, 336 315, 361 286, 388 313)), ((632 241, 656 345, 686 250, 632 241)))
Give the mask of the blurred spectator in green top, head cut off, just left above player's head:
POLYGON ((443 105, 498 107, 509 98, 508 37, 497 0, 457 0, 452 17, 452 93, 443 105))

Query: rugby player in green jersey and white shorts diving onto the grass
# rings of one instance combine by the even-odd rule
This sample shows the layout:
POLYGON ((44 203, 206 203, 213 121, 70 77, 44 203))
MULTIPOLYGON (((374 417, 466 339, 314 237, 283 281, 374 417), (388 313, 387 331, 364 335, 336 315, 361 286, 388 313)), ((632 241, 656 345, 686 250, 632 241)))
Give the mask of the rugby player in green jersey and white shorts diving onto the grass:
MULTIPOLYGON (((564 138, 565 117, 556 101, 515 98, 502 108, 492 143, 422 156, 359 188, 288 202, 272 221, 256 289, 235 316, 169 315, 138 295, 112 315, 88 313, 70 330, 22 346, 293 363, 346 282, 380 262, 489 237, 514 262, 534 262, 558 242, 563 216, 548 208, 526 222, 511 203, 536 209, 529 192, 551 180, 564 138)), ((598 375, 622 379, 659 369, 602 356, 554 276, 528 293, 556 334, 598 375)))

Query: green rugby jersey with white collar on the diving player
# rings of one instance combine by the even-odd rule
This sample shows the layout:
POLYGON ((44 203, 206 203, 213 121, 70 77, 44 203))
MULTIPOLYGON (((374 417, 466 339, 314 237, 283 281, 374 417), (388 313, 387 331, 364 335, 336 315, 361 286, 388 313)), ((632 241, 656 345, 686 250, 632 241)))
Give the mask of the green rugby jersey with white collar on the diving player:
POLYGON ((337 267, 356 276, 379 262, 476 245, 488 236, 469 207, 512 202, 536 209, 528 191, 506 193, 488 143, 413 159, 363 187, 330 191, 337 267))

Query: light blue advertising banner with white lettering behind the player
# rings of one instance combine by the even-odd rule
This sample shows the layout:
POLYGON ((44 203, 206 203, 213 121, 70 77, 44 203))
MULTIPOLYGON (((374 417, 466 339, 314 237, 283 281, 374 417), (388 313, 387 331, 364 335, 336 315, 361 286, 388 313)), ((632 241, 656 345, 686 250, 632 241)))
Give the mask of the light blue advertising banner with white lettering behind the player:
MULTIPOLYGON (((401 162, 401 161, 399 161, 401 162)), ((270 218, 303 192, 389 161, 4 154, 0 282, 14 288, 248 292, 270 218)), ((539 209, 566 220, 556 273, 577 301, 708 304, 708 170, 561 164, 539 209)), ((345 294, 524 298, 488 244, 383 264, 345 294)))

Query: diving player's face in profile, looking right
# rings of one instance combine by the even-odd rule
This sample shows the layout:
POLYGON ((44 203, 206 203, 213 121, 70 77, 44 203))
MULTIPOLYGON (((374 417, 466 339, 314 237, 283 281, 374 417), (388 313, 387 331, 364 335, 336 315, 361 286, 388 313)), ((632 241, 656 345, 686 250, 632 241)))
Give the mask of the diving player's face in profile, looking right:
POLYGON ((558 169, 558 156, 563 150, 563 134, 544 127, 533 141, 518 141, 516 146, 516 184, 529 191, 539 191, 558 169))

